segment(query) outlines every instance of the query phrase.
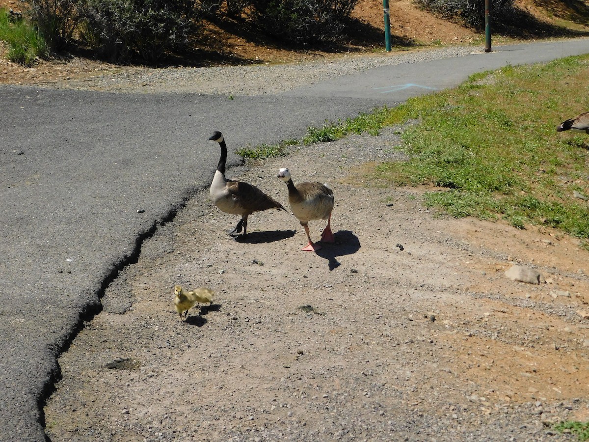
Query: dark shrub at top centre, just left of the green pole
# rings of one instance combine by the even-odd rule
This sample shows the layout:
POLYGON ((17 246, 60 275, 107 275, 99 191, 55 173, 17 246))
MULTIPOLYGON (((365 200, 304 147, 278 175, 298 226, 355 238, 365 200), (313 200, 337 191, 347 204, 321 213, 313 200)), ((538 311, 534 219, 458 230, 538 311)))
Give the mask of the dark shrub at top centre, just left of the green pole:
POLYGON ((296 44, 335 41, 358 0, 253 0, 264 31, 296 44))

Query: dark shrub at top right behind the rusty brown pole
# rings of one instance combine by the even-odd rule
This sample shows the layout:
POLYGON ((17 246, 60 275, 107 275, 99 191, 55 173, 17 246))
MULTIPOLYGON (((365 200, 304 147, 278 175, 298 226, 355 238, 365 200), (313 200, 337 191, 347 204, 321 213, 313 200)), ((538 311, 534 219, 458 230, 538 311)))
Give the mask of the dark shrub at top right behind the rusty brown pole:
MULTIPOLYGON (((485 27, 485 2, 482 0, 417 0, 429 11, 446 18, 459 17, 465 24, 477 29, 485 27)), ((514 0, 492 0, 491 14, 494 22, 504 21, 516 15, 514 0)))

